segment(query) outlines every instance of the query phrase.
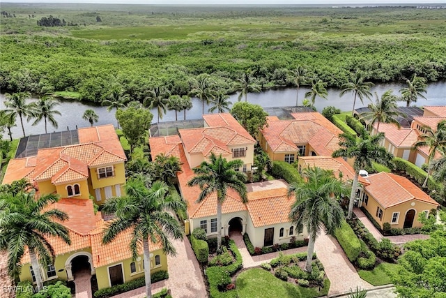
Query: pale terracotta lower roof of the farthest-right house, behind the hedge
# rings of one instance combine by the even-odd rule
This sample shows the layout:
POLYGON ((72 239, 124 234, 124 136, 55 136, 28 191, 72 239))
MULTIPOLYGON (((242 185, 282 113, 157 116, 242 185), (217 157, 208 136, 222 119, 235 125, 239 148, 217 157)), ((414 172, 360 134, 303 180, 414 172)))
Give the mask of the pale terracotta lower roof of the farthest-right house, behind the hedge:
MULTIPOLYGON (((378 124, 374 124, 376 130, 378 124)), ((420 137, 420 132, 415 128, 398 128, 394 124, 381 123, 379 125, 380 133, 384 133, 385 138, 395 147, 413 147, 420 137)))

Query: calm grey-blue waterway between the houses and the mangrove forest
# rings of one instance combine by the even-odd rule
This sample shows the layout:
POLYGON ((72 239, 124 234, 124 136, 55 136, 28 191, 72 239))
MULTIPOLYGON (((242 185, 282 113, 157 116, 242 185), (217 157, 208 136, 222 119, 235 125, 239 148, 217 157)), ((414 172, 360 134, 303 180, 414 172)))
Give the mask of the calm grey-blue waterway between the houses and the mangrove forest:
MULTIPOLYGON (((378 96, 381 96, 385 91, 392 89, 394 94, 399 94, 399 89, 403 88, 403 84, 376 84, 372 89, 372 93, 376 92, 378 96)), ((305 87, 299 90, 299 104, 302 104, 304 99, 304 94, 308 89, 305 87)), ((316 109, 321 112, 324 107, 332 105, 338 107, 342 111, 351 110, 353 107, 353 96, 351 94, 345 94, 340 97, 339 89, 328 89, 328 99, 316 98, 316 109)), ((418 106, 422 105, 446 105, 446 82, 434 82, 428 85, 426 98, 419 98, 417 101, 418 106)), ((238 94, 233 94, 230 96, 230 101, 236 103, 238 101, 238 94)), ((249 103, 256 103, 262 107, 279 107, 279 106, 290 106, 295 105, 296 89, 295 88, 284 88, 284 89, 270 89, 262 91, 260 93, 249 93, 247 100, 249 103)), ((4 109, 5 95, 0 94, 0 109, 4 109)), ((31 100, 36 100, 32 98, 31 100)), ((243 99, 244 100, 244 99, 243 99)), ((355 107, 364 107, 370 103, 369 100, 364 100, 361 103, 357 99, 355 107)), ((186 112, 186 119, 201 119, 202 106, 198 98, 192 98, 193 107, 191 110, 186 112)), ((400 105, 405 105, 401 102, 400 105)), ((85 110, 92 109, 95 110, 96 114, 99 115, 98 125, 102 124, 114 124, 116 126, 116 119, 114 117, 115 111, 107 111, 107 107, 102 107, 100 105, 94 105, 92 103, 82 103, 78 100, 60 100, 60 105, 57 110, 61 112, 61 115, 56 115, 54 118, 59 123, 58 128, 54 128, 51 124, 48 124, 48 132, 53 131, 65 131, 67 129, 75 129, 76 127, 86 127, 90 126, 88 121, 82 119, 82 115, 85 110)), ((205 112, 208 111, 208 107, 205 106, 205 112)), ((157 121, 157 112, 155 110, 151 111, 153 113, 153 121, 157 121)), ((178 120, 183 119, 183 112, 178 112, 178 120)), ((175 112, 167 111, 160 121, 174 121, 175 112)), ((31 126, 33 121, 26 121, 24 119, 24 128, 26 135, 30 134, 40 134, 45 133, 45 127, 43 121, 36 126, 31 126)), ((13 137, 22 137, 22 128, 20 127, 20 120, 17 119, 17 126, 13 128, 13 137)), ((4 133, 6 135, 6 133, 4 133)))

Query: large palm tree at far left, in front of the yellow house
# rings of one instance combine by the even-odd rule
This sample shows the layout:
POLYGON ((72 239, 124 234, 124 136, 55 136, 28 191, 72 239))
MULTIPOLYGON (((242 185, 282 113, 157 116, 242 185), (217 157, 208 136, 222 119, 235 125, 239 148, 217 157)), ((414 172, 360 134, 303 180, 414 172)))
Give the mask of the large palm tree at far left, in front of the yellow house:
MULTIPOLYGON (((4 188, 3 188, 4 190, 4 188)), ((35 191, 3 191, 0 193, 0 249, 8 251, 8 274, 17 278, 20 262, 28 248, 31 266, 38 288, 43 288, 40 265, 54 264, 54 248, 47 237, 57 237, 70 245, 68 229, 60 221, 68 215, 58 209, 49 209, 57 202, 56 195, 40 195, 35 191)))

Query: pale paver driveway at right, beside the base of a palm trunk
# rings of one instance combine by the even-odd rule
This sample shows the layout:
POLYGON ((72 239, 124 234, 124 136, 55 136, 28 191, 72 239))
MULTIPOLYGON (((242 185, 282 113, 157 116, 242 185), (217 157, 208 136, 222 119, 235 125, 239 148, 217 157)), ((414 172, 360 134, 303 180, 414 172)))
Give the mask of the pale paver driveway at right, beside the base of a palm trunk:
POLYGON ((330 279, 329 296, 348 292, 356 287, 373 288, 371 284, 360 278, 337 240, 323 231, 316 239, 315 252, 325 268, 325 274, 330 279))

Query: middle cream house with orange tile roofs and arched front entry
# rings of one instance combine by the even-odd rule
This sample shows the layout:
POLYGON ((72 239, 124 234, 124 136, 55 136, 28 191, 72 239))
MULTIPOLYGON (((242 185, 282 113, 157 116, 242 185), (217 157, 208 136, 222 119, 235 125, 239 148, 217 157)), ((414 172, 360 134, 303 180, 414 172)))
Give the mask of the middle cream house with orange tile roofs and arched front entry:
MULTIPOLYGON (((193 167, 205 161, 211 152, 222 154, 227 160, 241 159, 240 171, 252 170, 254 144, 256 141, 240 126, 231 114, 203 115, 205 128, 179 130, 179 135, 151 137, 152 158, 158 154, 173 155, 183 163, 178 173, 180 193, 187 202, 190 230, 203 228, 208 237, 217 236, 217 196, 209 195, 201 203, 197 198, 201 192, 198 186, 187 186, 194 177, 193 167)), ((222 234, 231 232, 249 234, 252 244, 257 247, 289 243, 291 237, 304 239, 305 230, 298 230, 288 218, 294 199, 286 195, 288 184, 283 180, 247 184, 248 203, 229 190, 222 205, 222 234)))

